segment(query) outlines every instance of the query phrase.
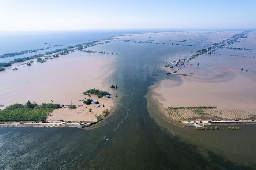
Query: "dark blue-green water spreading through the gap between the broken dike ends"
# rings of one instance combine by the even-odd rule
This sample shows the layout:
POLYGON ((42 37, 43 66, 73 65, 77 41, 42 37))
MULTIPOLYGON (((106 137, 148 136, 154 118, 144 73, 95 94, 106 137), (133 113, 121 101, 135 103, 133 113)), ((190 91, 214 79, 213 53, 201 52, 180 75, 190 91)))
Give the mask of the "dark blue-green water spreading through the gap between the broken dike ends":
POLYGON ((118 84, 120 98, 108 119, 87 130, 1 128, 0 169, 253 169, 211 151, 203 156, 150 116, 144 96, 165 75, 159 56, 189 47, 112 42, 93 48, 118 53, 107 80, 118 84))

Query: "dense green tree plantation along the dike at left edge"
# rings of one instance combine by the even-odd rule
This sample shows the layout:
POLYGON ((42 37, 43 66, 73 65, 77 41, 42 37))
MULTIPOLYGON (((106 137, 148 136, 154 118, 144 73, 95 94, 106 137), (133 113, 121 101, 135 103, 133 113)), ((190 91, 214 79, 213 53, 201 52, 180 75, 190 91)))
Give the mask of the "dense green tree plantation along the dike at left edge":
POLYGON ((42 121, 54 110, 60 108, 59 104, 27 101, 26 104, 13 104, 0 110, 0 121, 42 121))

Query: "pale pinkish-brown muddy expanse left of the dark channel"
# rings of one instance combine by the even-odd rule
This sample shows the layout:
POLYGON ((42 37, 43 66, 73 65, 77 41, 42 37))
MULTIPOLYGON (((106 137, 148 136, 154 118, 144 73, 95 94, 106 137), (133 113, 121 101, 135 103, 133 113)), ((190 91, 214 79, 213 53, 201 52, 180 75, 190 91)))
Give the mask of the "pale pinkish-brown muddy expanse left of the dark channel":
MULTIPOLYGON (((98 98, 101 105, 84 105, 82 101, 88 98, 83 94, 88 89, 110 91, 108 76, 114 71, 113 61, 116 55, 99 55, 76 51, 59 58, 49 59, 38 63, 36 59, 32 66, 16 63, 0 73, 0 105, 8 106, 14 103, 26 103, 27 100, 41 103, 59 103, 60 105, 74 104, 76 109, 56 109, 49 116, 50 121, 91 121, 95 115, 101 114, 104 109, 114 106, 115 97, 98 98), (103 104, 105 107, 103 108, 103 104), (86 108, 87 107, 87 108, 86 108), (92 112, 89 112, 89 108, 92 112)), ((25 62, 26 63, 26 62, 25 62)), ((111 82, 113 84, 114 82, 111 82)), ((111 90, 111 93, 114 93, 111 90)), ((112 94, 115 96, 115 94, 112 94)), ((4 107, 1 107, 3 109, 4 107)))

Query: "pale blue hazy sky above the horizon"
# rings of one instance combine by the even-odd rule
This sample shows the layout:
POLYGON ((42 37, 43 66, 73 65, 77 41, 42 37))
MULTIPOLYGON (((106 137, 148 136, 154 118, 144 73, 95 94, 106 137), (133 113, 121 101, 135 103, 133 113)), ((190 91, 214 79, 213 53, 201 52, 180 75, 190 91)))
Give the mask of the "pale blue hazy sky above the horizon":
POLYGON ((0 31, 256 28, 256 0, 0 0, 0 31))

